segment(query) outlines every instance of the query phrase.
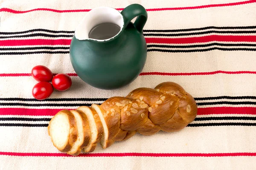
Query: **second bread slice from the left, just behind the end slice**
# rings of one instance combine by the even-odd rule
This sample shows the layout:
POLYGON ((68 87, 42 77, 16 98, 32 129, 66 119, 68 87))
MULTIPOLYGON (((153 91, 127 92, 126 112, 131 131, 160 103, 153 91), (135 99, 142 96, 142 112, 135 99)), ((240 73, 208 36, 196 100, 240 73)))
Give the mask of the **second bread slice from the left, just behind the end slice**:
POLYGON ((71 149, 67 152, 72 156, 78 156, 81 148, 87 146, 90 142, 90 127, 88 125, 87 117, 81 111, 70 111, 76 119, 76 127, 78 137, 76 142, 73 143, 71 149))

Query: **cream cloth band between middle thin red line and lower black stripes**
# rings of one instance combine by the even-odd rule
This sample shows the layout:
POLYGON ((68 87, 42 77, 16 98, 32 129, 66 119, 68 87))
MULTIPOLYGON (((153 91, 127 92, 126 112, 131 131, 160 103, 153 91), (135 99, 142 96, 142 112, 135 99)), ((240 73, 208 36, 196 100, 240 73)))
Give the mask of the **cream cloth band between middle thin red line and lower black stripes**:
MULTIPOLYGON (((256 96, 256 74, 215 74, 201 76, 139 76, 125 88, 102 90, 94 88, 79 77, 72 77, 73 85, 67 91, 54 91, 50 98, 109 98, 127 96, 140 87, 154 88, 162 82, 176 82, 193 97, 206 96, 256 96), (228 91, 227 91, 228 89, 228 91)), ((37 83, 32 77, 0 77, 1 98, 22 96, 32 98, 32 88, 37 83), (19 88, 17 88, 19 87, 19 88), (12 89, 12 93, 9 93, 12 89), (20 90, 22 89, 22 91, 20 90)))

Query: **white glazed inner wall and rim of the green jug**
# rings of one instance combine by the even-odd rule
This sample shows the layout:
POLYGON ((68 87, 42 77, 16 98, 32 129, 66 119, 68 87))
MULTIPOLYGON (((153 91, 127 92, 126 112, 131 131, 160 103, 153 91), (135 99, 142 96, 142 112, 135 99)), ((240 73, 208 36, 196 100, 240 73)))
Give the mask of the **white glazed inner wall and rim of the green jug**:
POLYGON ((120 27, 120 31, 114 36, 118 36, 123 28, 124 20, 122 14, 114 8, 110 7, 98 7, 87 12, 79 26, 76 28, 75 36, 78 40, 96 40, 96 41, 108 41, 114 37, 97 40, 89 38, 90 31, 99 24, 113 23, 120 27))

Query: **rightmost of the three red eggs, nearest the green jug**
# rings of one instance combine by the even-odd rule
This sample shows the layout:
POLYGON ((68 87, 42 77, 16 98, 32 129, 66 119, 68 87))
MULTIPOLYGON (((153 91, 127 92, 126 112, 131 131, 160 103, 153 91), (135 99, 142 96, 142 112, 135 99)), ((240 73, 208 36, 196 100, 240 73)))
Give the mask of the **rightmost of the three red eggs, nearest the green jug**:
POLYGON ((71 78, 67 74, 57 74, 52 79, 52 85, 58 91, 65 91, 72 85, 71 78))

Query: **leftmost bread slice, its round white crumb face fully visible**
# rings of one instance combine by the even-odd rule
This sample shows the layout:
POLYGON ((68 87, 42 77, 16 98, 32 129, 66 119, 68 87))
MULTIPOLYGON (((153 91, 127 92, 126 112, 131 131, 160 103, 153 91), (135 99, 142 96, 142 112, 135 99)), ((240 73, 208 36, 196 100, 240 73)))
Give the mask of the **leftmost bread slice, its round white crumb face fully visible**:
POLYGON ((69 151, 78 136, 74 115, 67 110, 59 111, 49 122, 48 134, 59 151, 69 151))

